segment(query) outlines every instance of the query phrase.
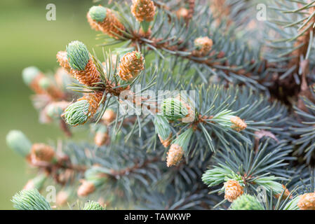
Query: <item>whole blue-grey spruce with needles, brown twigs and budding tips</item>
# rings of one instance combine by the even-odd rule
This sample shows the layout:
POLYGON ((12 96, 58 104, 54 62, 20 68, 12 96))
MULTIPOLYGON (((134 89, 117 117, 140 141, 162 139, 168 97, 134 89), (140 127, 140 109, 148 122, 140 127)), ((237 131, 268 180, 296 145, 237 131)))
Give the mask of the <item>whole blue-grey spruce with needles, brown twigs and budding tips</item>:
MULTIPOLYGON (((83 209, 314 209, 314 2, 278 1, 268 13, 280 19, 261 23, 255 0, 224 0, 227 19, 210 12, 217 1, 123 2, 86 15, 109 52, 72 41, 54 76, 22 72, 41 122, 68 135, 82 125, 94 141, 10 132, 38 172, 25 190, 54 182, 56 204, 84 197, 83 209), (260 42, 271 29, 279 40, 260 42)), ((23 195, 18 208, 48 209, 39 195, 19 205, 23 195)))

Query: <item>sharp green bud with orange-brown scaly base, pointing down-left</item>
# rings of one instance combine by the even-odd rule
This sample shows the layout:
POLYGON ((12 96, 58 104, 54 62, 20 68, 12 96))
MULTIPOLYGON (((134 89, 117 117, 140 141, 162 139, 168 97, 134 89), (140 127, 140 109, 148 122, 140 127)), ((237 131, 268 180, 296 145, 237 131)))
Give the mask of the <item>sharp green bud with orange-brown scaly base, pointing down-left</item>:
POLYGON ((102 100, 103 92, 91 92, 70 104, 62 113, 69 125, 83 125, 88 118, 94 116, 98 110, 98 104, 102 100))

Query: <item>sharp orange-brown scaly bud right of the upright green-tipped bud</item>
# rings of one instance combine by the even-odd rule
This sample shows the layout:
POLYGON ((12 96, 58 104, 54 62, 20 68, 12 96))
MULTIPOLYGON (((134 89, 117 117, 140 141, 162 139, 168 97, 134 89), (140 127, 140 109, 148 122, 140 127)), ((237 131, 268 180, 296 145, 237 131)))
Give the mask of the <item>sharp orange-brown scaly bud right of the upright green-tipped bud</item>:
POLYGON ((138 51, 128 52, 121 57, 119 63, 119 77, 122 80, 130 81, 136 78, 140 71, 145 69, 145 59, 138 51))

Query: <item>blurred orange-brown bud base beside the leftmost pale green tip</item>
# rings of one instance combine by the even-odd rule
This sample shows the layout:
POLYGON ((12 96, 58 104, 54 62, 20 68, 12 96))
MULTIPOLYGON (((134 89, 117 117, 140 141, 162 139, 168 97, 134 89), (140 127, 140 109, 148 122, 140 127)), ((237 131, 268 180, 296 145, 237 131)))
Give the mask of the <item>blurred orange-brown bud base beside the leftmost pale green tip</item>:
POLYGON ((55 158, 55 151, 51 146, 36 143, 32 146, 31 158, 35 161, 51 162, 55 158))

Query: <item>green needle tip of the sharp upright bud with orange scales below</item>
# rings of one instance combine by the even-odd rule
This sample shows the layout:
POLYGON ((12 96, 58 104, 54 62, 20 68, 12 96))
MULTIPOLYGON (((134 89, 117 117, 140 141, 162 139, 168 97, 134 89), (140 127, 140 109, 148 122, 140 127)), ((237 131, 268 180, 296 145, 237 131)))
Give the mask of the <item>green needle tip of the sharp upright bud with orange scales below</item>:
POLYGON ((80 41, 72 41, 67 45, 67 57, 69 65, 76 71, 83 71, 90 59, 86 45, 80 41))

